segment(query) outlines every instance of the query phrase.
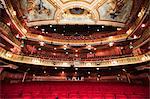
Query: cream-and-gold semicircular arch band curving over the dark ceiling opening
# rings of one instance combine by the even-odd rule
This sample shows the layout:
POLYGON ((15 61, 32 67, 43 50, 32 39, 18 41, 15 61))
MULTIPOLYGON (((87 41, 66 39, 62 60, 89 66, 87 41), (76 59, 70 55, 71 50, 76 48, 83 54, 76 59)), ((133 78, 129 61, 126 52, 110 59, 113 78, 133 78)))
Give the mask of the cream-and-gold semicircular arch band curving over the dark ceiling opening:
POLYGON ((81 2, 81 1, 74 1, 74 2, 68 2, 66 4, 62 5, 62 9, 58 9, 55 13, 54 19, 58 20, 58 18, 61 18, 63 12, 65 10, 68 10, 70 8, 74 8, 74 7, 78 7, 78 8, 83 8, 87 11, 90 12, 90 14, 92 15, 93 20, 95 21, 99 21, 99 13, 97 12, 97 10, 93 9, 91 7, 91 5, 85 3, 85 2, 81 2))

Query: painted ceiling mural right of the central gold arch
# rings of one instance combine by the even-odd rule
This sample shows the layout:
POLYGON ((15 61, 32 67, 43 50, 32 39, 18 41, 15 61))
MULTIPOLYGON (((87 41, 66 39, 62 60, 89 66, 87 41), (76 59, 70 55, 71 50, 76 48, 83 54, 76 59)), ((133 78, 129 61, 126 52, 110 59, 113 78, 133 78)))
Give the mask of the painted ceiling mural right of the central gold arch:
POLYGON ((132 9, 132 0, 107 0, 99 7, 101 20, 126 22, 132 9))

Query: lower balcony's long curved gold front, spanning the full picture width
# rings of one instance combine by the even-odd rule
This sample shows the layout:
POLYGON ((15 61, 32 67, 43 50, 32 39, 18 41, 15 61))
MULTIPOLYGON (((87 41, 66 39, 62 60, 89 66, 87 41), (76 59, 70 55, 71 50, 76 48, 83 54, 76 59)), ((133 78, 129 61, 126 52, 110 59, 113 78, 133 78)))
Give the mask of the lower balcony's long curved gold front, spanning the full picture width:
POLYGON ((17 55, 13 54, 12 52, 6 51, 3 48, 0 48, 0 57, 12 62, 42 65, 42 66, 70 67, 72 64, 74 64, 75 67, 107 67, 107 66, 136 64, 150 61, 150 51, 143 55, 117 58, 111 60, 103 60, 103 61, 80 61, 80 60, 59 61, 59 60, 40 59, 35 57, 17 55))

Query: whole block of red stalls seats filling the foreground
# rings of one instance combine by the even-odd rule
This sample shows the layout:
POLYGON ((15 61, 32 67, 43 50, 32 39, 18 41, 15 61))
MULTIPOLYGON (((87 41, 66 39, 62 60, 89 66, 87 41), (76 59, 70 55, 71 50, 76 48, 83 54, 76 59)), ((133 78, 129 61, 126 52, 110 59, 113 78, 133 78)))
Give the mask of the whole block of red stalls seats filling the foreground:
POLYGON ((149 99, 148 86, 126 83, 62 81, 1 85, 1 99, 149 99))

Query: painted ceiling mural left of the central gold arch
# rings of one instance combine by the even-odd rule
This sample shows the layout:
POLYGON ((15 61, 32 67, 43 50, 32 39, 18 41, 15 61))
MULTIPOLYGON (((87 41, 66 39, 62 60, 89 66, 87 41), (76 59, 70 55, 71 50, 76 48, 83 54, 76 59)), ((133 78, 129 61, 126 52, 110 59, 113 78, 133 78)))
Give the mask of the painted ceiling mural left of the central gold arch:
POLYGON ((21 0, 28 22, 53 19, 56 8, 47 0, 21 0))

